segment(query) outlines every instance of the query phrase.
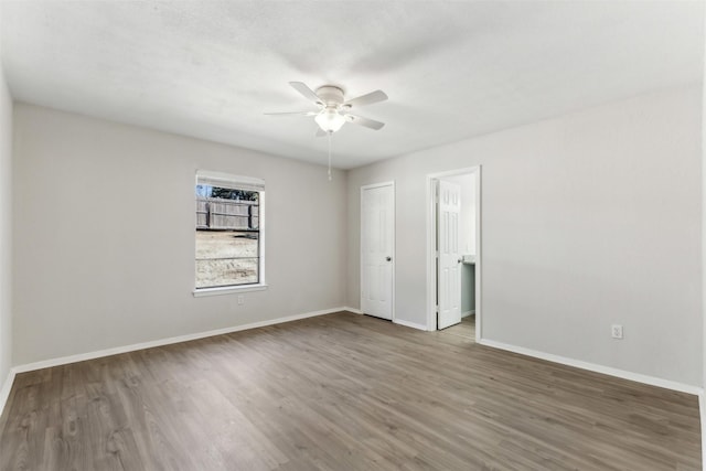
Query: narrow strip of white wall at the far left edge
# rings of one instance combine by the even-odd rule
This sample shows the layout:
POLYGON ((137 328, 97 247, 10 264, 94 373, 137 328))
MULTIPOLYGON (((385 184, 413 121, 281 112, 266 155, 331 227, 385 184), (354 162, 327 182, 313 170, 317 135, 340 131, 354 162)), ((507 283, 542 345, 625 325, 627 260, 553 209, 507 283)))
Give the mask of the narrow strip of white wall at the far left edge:
MULTIPOLYGON (((0 388, 12 366, 12 97, 0 66, 0 388)), ((3 398, 0 397, 0 406, 3 398)))

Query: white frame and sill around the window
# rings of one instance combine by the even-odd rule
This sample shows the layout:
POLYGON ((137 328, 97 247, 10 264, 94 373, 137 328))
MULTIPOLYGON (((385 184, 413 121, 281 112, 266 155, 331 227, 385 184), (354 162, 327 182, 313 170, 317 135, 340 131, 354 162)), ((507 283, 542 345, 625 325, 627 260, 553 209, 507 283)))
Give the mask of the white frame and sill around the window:
MULTIPOLYGON (((218 295, 231 295, 231 293, 242 293, 248 291, 263 291, 267 289, 266 278, 265 278, 265 199, 266 199, 266 188, 265 180, 253 178, 253 176, 244 176, 244 175, 235 175, 231 173, 223 172, 213 172, 207 170, 197 170, 194 175, 194 185, 192 186, 192 195, 194 197, 194 212, 192 214, 195 215, 195 211, 197 208, 197 200, 195 196, 196 185, 200 184, 200 179, 202 180, 211 180, 214 182, 223 181, 231 186, 235 186, 239 190, 245 191, 257 191, 258 192, 258 282, 256 283, 246 283, 246 285, 228 285, 228 286, 218 286, 218 287, 207 287, 207 288, 196 288, 196 224, 194 221, 194 269, 193 269, 193 280, 194 280, 194 289, 192 291, 194 298, 205 297, 205 296, 218 296, 218 295)), ((203 184, 203 182, 201 183, 203 184)))

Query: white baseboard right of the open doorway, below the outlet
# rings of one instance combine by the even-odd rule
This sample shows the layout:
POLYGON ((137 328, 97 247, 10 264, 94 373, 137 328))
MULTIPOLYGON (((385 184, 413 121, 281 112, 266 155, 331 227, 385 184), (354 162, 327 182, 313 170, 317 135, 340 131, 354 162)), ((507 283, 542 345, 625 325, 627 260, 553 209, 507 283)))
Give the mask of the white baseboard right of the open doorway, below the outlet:
MULTIPOLYGON (((563 365, 574 366, 581 370, 588 370, 590 372, 602 373, 609 376, 616 376, 623 379, 630 379, 638 383, 649 384, 651 386, 663 387, 666 389, 678 390, 681 393, 702 395, 704 389, 698 386, 689 384, 677 383, 670 379, 662 379, 654 376, 648 376, 640 373, 627 372, 624 370, 612 368, 610 366, 597 365, 595 363, 581 362, 580 360, 567 358, 565 356, 554 355, 552 353, 538 352, 523 346, 510 345, 502 342, 495 342, 494 340, 481 339, 478 343, 485 346, 492 346, 494 349, 506 350, 513 353, 520 353, 521 355, 533 356, 539 360, 546 360, 548 362, 560 363, 563 365)), ((703 421, 702 421, 703 424, 703 421)))

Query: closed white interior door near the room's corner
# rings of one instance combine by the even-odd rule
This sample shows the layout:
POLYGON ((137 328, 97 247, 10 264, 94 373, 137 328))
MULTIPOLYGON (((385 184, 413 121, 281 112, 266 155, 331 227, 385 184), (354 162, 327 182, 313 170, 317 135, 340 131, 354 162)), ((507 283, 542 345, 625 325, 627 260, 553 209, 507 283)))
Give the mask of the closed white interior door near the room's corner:
POLYGON ((395 188, 361 189, 361 310, 393 319, 395 188))

